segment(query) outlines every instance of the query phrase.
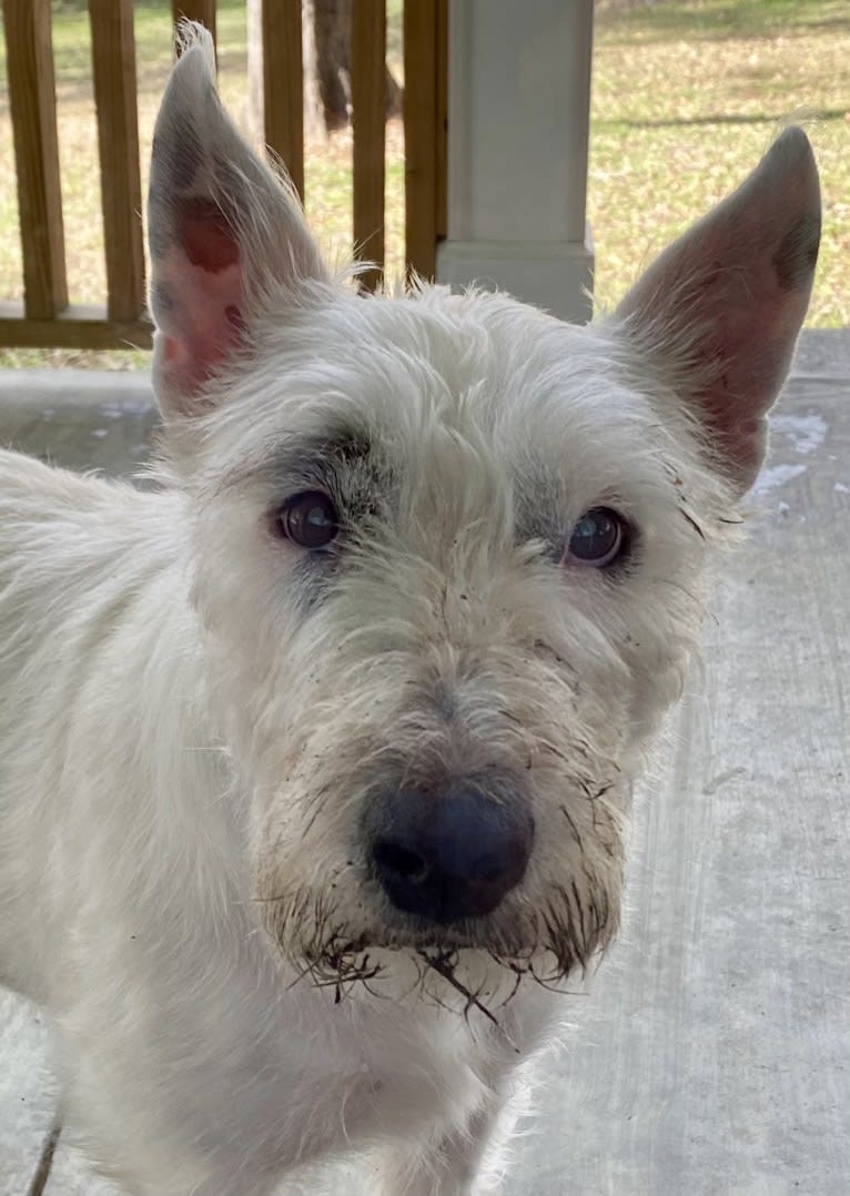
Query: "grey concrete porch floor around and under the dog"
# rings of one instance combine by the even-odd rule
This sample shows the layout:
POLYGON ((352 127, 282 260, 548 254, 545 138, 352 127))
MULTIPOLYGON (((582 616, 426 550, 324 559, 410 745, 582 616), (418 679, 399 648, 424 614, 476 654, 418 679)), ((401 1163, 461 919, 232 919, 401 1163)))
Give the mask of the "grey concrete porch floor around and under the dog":
MULTIPOLYGON (((143 459, 145 378, 32 382, 0 377, 1 443, 143 459)), ((626 928, 538 1073, 508 1196, 850 1192, 850 331, 803 336, 772 428, 704 675, 637 804, 626 928)), ((111 1196, 61 1134, 48 1158, 45 1039, 0 991, 0 1196, 111 1196)), ((368 1176, 328 1190, 369 1196, 368 1176)))

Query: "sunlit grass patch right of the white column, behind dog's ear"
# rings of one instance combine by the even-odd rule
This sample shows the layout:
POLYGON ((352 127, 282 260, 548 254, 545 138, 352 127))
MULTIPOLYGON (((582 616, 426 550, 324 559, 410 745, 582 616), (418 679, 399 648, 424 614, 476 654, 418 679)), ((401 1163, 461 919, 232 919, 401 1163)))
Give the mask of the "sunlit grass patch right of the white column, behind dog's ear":
POLYGON ((850 324, 846 0, 599 5, 593 68, 588 215, 601 305, 794 117, 807 124, 824 196, 807 323, 850 324))

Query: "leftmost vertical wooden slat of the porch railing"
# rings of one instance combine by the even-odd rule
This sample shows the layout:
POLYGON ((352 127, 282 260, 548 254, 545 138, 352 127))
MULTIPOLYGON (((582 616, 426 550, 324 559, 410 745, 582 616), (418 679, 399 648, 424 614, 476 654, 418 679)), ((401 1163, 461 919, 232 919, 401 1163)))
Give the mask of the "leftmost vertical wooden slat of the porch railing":
POLYGON ((44 319, 68 303, 50 0, 4 0, 2 11, 26 315, 44 319))

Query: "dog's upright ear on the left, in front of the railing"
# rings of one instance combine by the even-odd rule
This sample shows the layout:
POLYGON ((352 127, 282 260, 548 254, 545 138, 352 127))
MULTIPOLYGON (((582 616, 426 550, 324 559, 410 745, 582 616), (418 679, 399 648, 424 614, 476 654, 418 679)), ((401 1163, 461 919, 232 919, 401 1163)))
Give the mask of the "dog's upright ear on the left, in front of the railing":
POLYGON ((202 405, 204 382, 250 335, 269 297, 328 280, 292 188, 250 150, 215 90, 213 39, 182 26, 157 120, 148 240, 153 376, 166 419, 202 405))

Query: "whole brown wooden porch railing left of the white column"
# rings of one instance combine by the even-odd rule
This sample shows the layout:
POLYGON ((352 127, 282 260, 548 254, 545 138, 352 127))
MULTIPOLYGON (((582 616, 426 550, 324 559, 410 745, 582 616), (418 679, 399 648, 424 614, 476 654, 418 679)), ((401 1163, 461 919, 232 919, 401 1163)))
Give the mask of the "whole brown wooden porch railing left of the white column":
MULTIPOLYGON (((0 346, 106 349, 151 343, 145 316, 141 171, 133 0, 88 0, 98 121, 106 297, 68 304, 56 132, 50 0, 2 0, 14 134, 24 301, 0 297, 0 346)), ((215 0, 173 0, 175 20, 215 35, 215 0)), ((351 5, 353 243, 384 264, 384 0, 351 5)), ((446 0, 404 4, 405 262, 434 274, 446 212, 446 0)), ((263 124, 268 146, 304 194, 301 0, 263 0, 263 124)))

